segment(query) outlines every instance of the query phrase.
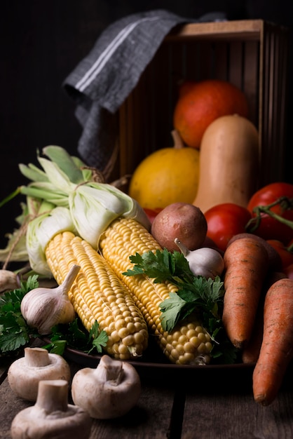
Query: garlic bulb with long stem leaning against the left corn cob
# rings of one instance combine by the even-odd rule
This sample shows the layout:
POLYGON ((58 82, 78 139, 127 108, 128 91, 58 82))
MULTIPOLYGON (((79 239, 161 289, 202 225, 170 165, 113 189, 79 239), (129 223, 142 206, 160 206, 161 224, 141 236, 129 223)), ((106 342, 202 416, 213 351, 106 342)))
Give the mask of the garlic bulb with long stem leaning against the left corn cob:
POLYGON ((65 281, 57 288, 40 287, 27 292, 20 304, 27 325, 36 327, 39 334, 46 335, 58 323, 74 320, 76 313, 67 293, 80 269, 79 265, 72 266, 65 281))

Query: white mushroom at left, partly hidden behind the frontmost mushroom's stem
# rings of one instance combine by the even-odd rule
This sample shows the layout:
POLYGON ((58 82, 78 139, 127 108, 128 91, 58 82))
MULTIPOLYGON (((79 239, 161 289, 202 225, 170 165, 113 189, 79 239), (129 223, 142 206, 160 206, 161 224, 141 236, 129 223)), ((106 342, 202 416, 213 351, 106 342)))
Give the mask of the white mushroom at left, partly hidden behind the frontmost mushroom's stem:
POLYGON ((25 356, 15 360, 8 369, 8 383, 20 398, 36 401, 39 381, 65 379, 69 381, 69 364, 57 353, 43 348, 25 348, 25 356))

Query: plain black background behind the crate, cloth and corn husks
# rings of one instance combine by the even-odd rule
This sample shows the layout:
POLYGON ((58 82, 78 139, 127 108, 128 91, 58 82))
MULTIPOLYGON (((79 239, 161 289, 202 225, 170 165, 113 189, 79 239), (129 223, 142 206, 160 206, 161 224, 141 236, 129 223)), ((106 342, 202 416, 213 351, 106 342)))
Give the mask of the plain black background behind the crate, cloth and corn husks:
MULTIPOLYGON (((74 116, 74 103, 62 90, 62 82, 111 22, 131 13, 163 8, 191 18, 222 11, 229 20, 261 18, 291 29, 292 6, 293 2, 287 0, 1 1, 0 201, 19 184, 27 182, 20 175, 18 163, 36 163, 37 149, 57 144, 76 154, 81 126, 74 116)), ((290 78, 291 34, 289 47, 290 78)), ((291 119, 290 81, 287 102, 287 119, 291 119)), ((287 154, 292 144, 288 122, 287 154)), ((287 162, 286 181, 293 183, 287 162)), ((4 234, 15 227, 19 203, 18 198, 0 210, 1 247, 6 243, 4 234)))

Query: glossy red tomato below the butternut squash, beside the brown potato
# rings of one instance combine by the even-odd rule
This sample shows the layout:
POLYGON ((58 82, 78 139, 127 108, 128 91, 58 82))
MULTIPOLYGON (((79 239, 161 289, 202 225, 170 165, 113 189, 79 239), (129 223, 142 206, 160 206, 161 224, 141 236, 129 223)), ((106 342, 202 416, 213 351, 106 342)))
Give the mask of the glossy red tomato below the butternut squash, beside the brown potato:
POLYGON ((205 212, 207 236, 220 250, 225 251, 234 235, 245 233, 245 226, 251 219, 250 212, 234 203, 215 205, 205 212))

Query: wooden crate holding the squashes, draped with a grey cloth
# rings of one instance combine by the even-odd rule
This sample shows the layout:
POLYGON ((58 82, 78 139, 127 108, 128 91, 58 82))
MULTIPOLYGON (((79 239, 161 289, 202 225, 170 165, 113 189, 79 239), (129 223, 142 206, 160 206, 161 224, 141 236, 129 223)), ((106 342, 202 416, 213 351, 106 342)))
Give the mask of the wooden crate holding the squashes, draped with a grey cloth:
POLYGON ((118 173, 131 174, 151 151, 172 146, 179 81, 217 78, 247 96, 259 130, 259 185, 283 180, 287 56, 288 29, 264 20, 173 29, 119 110, 118 173))

